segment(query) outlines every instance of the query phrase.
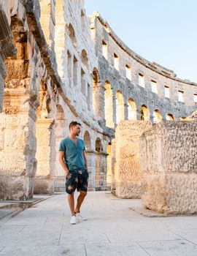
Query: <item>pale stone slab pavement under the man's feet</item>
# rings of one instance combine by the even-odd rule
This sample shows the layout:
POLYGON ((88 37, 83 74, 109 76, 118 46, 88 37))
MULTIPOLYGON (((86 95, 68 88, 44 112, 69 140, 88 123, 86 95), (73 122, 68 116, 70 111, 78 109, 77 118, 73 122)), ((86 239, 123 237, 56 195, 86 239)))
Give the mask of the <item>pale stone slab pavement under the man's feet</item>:
POLYGON ((145 217, 139 200, 89 192, 87 222, 70 225, 66 195, 55 195, 0 221, 0 256, 196 256, 197 217, 145 217))

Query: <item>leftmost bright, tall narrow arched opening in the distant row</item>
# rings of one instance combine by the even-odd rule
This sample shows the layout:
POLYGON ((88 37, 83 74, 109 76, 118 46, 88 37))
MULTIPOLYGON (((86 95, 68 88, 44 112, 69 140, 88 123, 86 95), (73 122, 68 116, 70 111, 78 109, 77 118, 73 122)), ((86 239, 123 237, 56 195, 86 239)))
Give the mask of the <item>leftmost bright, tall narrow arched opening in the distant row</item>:
POLYGON ((104 84, 104 116, 107 127, 114 127, 113 121, 113 97, 112 97, 112 86, 109 81, 104 84))

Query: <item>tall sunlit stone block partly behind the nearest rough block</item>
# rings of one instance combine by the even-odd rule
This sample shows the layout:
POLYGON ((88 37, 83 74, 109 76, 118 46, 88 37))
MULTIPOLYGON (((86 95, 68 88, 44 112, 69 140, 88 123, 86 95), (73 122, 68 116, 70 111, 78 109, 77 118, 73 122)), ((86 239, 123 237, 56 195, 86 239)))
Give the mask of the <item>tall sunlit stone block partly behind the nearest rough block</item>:
POLYGON ((150 121, 120 121, 115 131, 115 195, 140 198, 142 172, 139 169, 139 138, 150 129, 150 121))

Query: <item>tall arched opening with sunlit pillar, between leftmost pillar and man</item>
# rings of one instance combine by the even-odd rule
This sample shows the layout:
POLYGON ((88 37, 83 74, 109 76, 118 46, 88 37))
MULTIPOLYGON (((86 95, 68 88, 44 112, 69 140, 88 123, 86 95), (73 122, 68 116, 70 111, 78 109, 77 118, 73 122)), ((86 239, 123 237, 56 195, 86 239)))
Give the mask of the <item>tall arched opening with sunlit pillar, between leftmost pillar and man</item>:
POLYGON ((36 111, 37 170, 34 177, 34 193, 48 194, 54 192, 56 151, 54 150, 54 119, 50 118, 51 98, 44 79, 39 86, 38 99, 39 108, 36 111))

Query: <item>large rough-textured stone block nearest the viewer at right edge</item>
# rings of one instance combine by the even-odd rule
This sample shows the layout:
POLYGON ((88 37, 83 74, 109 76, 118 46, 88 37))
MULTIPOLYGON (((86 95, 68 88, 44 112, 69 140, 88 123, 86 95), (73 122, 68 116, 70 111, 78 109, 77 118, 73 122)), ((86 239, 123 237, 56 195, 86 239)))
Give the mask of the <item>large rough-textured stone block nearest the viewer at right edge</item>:
POLYGON ((140 140, 142 203, 162 214, 197 213, 197 123, 161 121, 140 140))

